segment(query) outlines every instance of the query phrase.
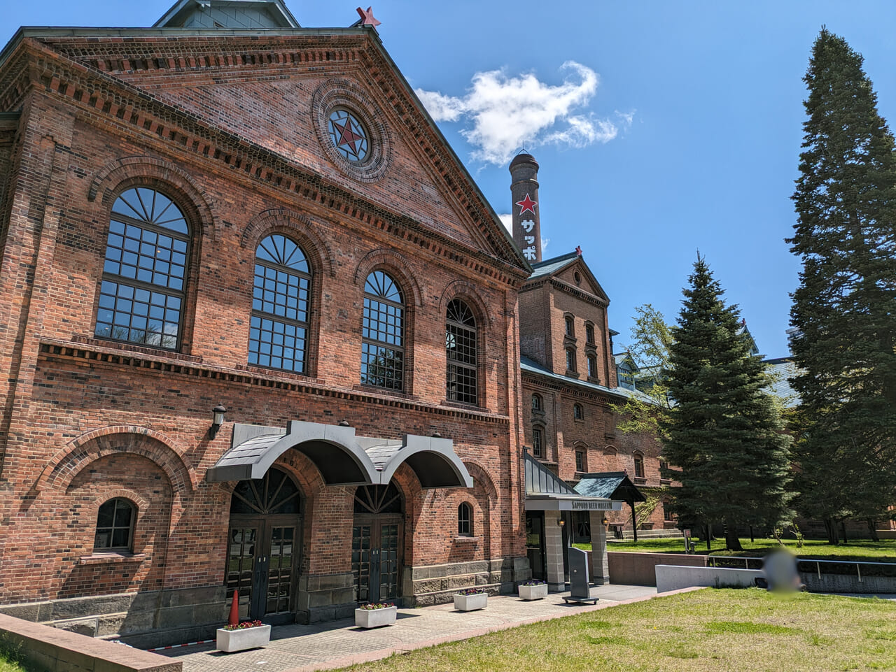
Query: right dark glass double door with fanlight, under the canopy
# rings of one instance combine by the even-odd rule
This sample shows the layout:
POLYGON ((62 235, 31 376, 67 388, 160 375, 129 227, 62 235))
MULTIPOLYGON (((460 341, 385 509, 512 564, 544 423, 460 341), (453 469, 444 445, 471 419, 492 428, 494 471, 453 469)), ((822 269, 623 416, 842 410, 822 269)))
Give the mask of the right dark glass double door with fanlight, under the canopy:
POLYGON ((351 569, 358 602, 401 597, 401 506, 401 494, 394 485, 361 486, 356 492, 351 569))

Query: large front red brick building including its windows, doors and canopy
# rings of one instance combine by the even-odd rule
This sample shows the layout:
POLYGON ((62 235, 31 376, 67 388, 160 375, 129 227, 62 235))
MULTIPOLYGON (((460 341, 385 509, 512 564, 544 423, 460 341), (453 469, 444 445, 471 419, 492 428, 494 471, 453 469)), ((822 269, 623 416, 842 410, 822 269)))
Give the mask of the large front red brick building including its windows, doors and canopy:
MULTIPOLYGON (((609 393, 529 370, 521 389, 530 267, 369 17, 306 30, 279 0, 237 5, 22 29, 0 53, 13 616, 182 642, 234 590, 271 623, 509 591, 530 575, 533 392, 544 459, 572 474, 580 438, 610 459, 609 393), (555 430, 573 398, 599 441, 555 430)), ((604 300, 550 296, 608 357, 604 300)))

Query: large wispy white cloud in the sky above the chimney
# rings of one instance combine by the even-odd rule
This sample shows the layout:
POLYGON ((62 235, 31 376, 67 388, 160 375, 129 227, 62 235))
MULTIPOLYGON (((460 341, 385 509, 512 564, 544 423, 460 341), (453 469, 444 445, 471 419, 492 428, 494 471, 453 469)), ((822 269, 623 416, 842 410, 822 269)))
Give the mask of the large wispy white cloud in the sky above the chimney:
POLYGON ((417 89, 417 95, 436 122, 465 122, 461 134, 475 148, 473 157, 499 166, 523 147, 552 143, 579 148, 613 140, 615 123, 581 112, 598 89, 598 73, 574 61, 561 70, 571 74, 557 86, 531 72, 511 77, 492 70, 473 75, 463 97, 424 89, 417 89))

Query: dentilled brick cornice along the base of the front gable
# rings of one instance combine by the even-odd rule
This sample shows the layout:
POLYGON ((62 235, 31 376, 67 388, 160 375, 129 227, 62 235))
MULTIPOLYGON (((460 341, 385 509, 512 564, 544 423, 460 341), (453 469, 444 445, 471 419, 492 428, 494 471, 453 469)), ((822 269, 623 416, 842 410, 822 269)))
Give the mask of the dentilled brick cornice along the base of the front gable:
MULTIPOLYGON (((171 42, 168 38, 150 41, 153 45, 165 45, 171 42)), ((200 39, 196 38, 195 42, 199 41, 200 39)), ((88 43, 85 42, 86 44, 88 43)), ((92 46, 92 43, 90 44, 92 46)), ((138 43, 134 39, 134 44, 144 43, 138 43)), ((358 45, 363 46, 363 41, 358 40, 358 45)), ((195 47, 198 47, 198 44, 195 47)), ((261 181, 272 189, 297 194, 331 212, 337 212, 342 219, 350 217, 362 225, 374 225, 387 234, 418 245, 444 259, 449 259, 452 263, 466 266, 479 275, 489 276, 500 283, 518 288, 528 274, 526 269, 507 259, 464 246, 438 234, 412 217, 348 191, 321 174, 316 174, 304 166, 297 166, 288 157, 246 140, 236 133, 215 127, 199 115, 159 100, 149 90, 138 88, 120 77, 94 69, 85 65, 82 60, 60 53, 57 51, 58 48, 59 45, 56 43, 51 48, 37 38, 24 38, 16 47, 18 53, 7 59, 4 71, 9 72, 14 69, 15 64, 25 60, 28 63, 26 71, 30 86, 42 87, 50 95, 67 99, 70 104, 80 109, 85 120, 91 123, 99 121, 113 126, 116 132, 137 133, 144 137, 151 135, 156 140, 173 144, 187 155, 216 163, 219 170, 233 171, 256 184, 261 181)), ((174 67, 177 67, 177 63, 174 67)), ((257 71, 255 75, 257 78, 257 71)), ((9 109, 17 102, 21 102, 21 98, 25 95, 25 89, 22 89, 20 84, 12 89, 7 86, 6 89, 12 93, 4 98, 6 80, 6 74, 0 74, 0 110, 9 109)), ((381 80, 383 80, 382 74, 375 77, 377 83, 381 80)), ((390 98, 392 106, 395 105, 395 97, 396 93, 392 92, 390 98)), ((407 122, 406 116, 401 118, 407 122)), ((422 130, 411 133, 420 140, 422 130)), ((439 142, 435 147, 441 150, 438 153, 444 157, 443 143, 439 142)), ((455 194, 475 190, 470 178, 461 174, 462 168, 459 170, 454 166, 452 171, 450 169, 452 166, 449 166, 444 158, 435 156, 436 153, 435 149, 426 151, 430 161, 443 175, 444 182, 455 194)), ((487 201, 480 197, 473 201, 464 197, 461 204, 468 213, 474 205, 476 206, 474 210, 477 208, 481 212, 490 210, 487 201)), ((481 225, 482 217, 473 218, 477 221, 480 231, 488 228, 481 225)), ((493 246, 492 249, 501 251, 511 259, 518 257, 515 249, 510 246, 511 243, 499 242, 494 235, 487 237, 493 246)))

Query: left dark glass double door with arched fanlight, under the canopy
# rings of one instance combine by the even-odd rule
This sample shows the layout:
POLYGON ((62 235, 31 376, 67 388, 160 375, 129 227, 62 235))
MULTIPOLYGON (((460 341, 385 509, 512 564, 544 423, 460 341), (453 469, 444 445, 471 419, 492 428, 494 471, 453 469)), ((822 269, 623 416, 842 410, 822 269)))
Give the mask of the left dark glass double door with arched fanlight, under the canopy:
POLYGON ((301 499, 284 472, 241 481, 234 489, 228 533, 228 599, 236 590, 241 620, 295 620, 301 499))

